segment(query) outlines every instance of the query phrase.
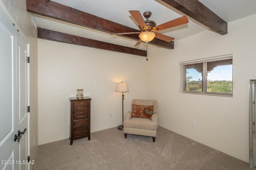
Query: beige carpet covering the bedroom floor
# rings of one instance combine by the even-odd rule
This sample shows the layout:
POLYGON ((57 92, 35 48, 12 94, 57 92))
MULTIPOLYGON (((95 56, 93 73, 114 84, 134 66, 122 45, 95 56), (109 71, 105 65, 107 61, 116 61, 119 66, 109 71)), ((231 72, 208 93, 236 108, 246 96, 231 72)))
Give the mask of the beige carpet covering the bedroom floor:
POLYGON ((158 128, 152 137, 129 135, 117 128, 91 133, 69 145, 64 139, 40 145, 34 170, 250 170, 232 156, 158 128))

